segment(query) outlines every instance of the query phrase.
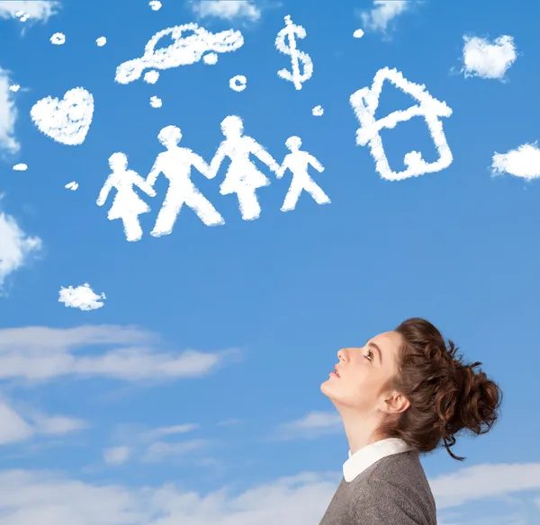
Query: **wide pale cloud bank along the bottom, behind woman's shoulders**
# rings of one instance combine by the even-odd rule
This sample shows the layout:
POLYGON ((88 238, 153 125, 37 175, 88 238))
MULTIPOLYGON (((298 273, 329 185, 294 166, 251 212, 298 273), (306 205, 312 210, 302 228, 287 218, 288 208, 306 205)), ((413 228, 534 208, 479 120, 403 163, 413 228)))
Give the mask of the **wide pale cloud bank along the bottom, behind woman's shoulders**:
MULTIPOLYGON (((335 493, 341 472, 275 479, 240 494, 229 487, 208 494, 183 492, 175 483, 161 486, 89 484, 47 471, 0 471, 2 525, 313 525, 335 493), (95 504, 99 502, 99 504, 95 504)), ((429 480, 437 509, 522 491, 540 491, 540 464, 479 465, 429 480)), ((502 512, 500 512, 501 514, 502 512)), ((480 516, 479 516, 480 517, 480 516)), ((467 512, 467 523, 474 516, 467 512)), ((485 523, 489 516, 482 516, 485 523)), ((458 523, 462 520, 443 520, 458 523)), ((518 523, 518 521, 512 521, 518 523)))

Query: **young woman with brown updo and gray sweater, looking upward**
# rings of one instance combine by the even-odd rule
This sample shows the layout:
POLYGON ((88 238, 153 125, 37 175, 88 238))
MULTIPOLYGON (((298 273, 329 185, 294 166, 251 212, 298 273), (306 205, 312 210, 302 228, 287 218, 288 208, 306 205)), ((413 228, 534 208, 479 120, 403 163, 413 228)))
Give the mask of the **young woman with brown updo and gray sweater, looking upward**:
POLYGON ((343 479, 320 525, 436 525, 437 512, 419 454, 468 429, 489 432, 502 391, 481 362, 418 317, 378 334, 362 348, 338 351, 320 389, 338 409, 349 443, 343 479))

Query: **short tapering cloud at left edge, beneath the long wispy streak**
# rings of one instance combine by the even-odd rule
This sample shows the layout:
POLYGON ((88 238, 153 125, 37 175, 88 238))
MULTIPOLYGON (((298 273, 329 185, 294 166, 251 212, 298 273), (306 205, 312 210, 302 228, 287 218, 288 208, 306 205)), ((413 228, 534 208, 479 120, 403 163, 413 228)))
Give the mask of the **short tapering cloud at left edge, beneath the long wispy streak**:
POLYGON ((64 415, 47 415, 36 410, 19 414, 5 401, 0 401, 0 445, 28 440, 34 435, 64 435, 88 427, 80 419, 64 415))

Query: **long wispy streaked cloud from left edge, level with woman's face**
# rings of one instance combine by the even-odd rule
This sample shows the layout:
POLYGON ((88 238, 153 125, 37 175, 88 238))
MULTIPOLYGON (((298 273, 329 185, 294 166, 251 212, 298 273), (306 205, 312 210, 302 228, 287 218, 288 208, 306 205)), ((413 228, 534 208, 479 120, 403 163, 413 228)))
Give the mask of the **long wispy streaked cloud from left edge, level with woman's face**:
MULTIPOLYGON (((0 234, 2 233, 0 223, 0 234)), ((0 235, 0 239, 3 237, 0 235)), ((133 327, 80 326, 52 329, 43 326, 0 330, 0 378, 43 380, 62 376, 107 377, 138 381, 201 377, 238 357, 236 349, 202 352, 157 351, 148 346, 150 335, 133 327), (135 344, 99 353, 74 351, 84 345, 135 344)))

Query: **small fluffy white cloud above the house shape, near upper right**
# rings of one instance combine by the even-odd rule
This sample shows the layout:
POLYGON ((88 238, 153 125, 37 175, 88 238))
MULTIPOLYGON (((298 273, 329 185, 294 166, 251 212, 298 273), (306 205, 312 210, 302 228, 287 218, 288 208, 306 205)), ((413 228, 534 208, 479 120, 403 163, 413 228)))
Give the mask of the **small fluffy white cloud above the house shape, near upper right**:
POLYGON ((503 35, 490 43, 479 37, 464 36, 464 76, 502 78, 518 55, 514 39, 503 35))

